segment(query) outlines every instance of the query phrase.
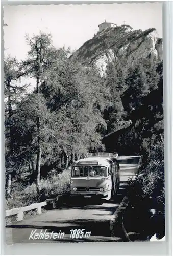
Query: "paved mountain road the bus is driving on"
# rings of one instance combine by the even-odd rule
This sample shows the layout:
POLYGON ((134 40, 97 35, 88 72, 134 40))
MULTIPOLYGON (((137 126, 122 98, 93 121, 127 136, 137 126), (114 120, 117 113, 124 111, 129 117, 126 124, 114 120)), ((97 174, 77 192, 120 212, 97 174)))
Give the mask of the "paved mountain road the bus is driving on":
POLYGON ((48 210, 40 216, 8 226, 6 228, 7 244, 121 241, 120 237, 113 236, 111 223, 116 216, 116 208, 125 196, 128 177, 133 178, 135 176, 140 160, 140 156, 119 157, 120 188, 114 201, 97 205, 91 201, 83 201, 78 205, 63 205, 60 209, 48 210), (70 238, 71 229, 85 229, 83 230, 83 238, 70 238), (44 232, 46 232, 46 236, 44 232), (61 235, 63 238, 60 239, 59 235, 58 239, 58 234, 62 232, 65 233, 64 236, 61 235), (38 234, 35 235, 35 233, 38 234), (43 233, 44 236, 41 235, 43 233), (55 237, 53 237, 54 234, 55 237), (35 238, 39 236, 40 239, 33 240, 34 236, 35 238))

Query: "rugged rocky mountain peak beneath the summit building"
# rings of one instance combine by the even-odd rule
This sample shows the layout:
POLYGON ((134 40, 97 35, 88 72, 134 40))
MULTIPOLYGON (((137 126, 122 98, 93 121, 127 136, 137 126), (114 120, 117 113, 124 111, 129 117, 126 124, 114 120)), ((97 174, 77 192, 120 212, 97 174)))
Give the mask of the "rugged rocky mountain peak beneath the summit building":
POLYGON ((102 76, 107 65, 126 71, 141 59, 161 62, 162 39, 156 29, 133 30, 129 25, 109 28, 85 42, 72 57, 87 66, 96 66, 102 76))

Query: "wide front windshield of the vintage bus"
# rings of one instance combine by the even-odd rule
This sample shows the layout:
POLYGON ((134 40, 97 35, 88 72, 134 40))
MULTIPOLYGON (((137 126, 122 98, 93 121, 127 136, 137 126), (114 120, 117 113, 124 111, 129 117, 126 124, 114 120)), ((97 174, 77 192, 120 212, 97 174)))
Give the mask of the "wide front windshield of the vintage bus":
POLYGON ((76 166, 72 168, 72 177, 106 177, 106 169, 103 166, 76 166))

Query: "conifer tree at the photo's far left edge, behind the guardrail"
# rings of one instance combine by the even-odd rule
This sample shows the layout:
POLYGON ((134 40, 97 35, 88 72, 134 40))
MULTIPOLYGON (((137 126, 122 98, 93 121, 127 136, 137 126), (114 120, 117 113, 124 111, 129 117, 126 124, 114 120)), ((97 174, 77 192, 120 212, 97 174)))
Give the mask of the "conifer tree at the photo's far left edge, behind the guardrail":
POLYGON ((8 56, 4 59, 6 199, 10 198, 11 178, 16 174, 13 116, 16 104, 26 92, 27 86, 20 86, 18 83, 25 74, 16 58, 8 56))

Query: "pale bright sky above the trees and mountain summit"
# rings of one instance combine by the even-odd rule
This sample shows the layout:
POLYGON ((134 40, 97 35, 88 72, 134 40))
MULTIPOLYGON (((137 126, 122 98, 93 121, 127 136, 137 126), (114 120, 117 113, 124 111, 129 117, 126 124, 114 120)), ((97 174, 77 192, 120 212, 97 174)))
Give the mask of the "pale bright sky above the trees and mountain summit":
POLYGON ((51 33, 53 45, 77 50, 98 31, 98 24, 129 24, 133 29, 156 28, 162 37, 162 3, 4 6, 4 53, 19 61, 29 50, 25 38, 51 33))

